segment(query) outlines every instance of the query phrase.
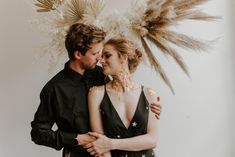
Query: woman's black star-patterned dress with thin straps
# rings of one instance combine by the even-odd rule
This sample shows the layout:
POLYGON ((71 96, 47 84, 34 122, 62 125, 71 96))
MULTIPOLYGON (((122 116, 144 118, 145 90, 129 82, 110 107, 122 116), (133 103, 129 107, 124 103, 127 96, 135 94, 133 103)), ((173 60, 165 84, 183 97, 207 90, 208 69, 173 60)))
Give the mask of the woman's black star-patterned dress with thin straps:
MULTIPOLYGON (((109 138, 129 138, 147 133, 149 103, 144 95, 143 87, 139 101, 131 120, 130 126, 126 128, 120 116, 114 108, 105 87, 104 98, 100 105, 104 133, 109 138)), ((144 142, 144 141, 143 141, 144 142)), ((112 157, 154 157, 152 149, 143 151, 112 150, 112 157)))

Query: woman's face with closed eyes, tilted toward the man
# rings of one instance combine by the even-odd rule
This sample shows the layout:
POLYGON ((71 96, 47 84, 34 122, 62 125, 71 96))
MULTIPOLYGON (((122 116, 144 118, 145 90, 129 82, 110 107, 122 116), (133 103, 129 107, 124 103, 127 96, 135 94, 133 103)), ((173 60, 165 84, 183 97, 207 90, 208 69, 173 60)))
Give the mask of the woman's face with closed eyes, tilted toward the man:
POLYGON ((105 45, 102 52, 101 64, 105 75, 117 75, 121 70, 121 58, 112 45, 105 45))

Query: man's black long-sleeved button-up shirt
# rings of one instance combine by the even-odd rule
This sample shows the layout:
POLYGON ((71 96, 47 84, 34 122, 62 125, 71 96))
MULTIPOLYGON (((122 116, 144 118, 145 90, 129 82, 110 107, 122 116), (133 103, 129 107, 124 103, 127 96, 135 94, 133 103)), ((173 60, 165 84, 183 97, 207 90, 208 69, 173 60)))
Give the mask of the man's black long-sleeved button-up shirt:
POLYGON ((42 89, 40 104, 31 122, 32 140, 57 150, 66 149, 70 156, 89 156, 74 139, 90 131, 87 93, 90 87, 103 85, 105 76, 96 66, 84 75, 73 71, 68 63, 42 89), (58 129, 52 130, 56 123, 58 129))

